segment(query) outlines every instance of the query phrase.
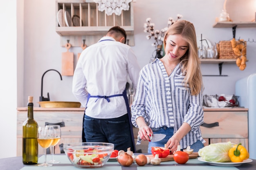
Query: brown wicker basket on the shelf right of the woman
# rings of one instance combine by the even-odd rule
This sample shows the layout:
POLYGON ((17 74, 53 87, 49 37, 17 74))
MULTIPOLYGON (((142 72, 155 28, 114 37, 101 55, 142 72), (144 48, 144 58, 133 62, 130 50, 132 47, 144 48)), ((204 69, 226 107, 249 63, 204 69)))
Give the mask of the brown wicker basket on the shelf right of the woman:
MULTIPOLYGON (((240 42, 236 41, 236 43, 238 44, 240 42)), ((216 46, 219 59, 236 59, 239 57, 234 54, 230 41, 220 41, 216 46)), ((246 42, 244 46, 246 46, 246 42)))

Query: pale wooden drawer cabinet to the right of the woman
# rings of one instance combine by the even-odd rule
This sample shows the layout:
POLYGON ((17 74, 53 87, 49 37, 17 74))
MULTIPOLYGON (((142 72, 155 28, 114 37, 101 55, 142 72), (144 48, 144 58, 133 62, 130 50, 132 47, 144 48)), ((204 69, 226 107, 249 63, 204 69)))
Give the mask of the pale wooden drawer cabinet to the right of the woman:
POLYGON ((227 142, 242 143, 248 150, 248 109, 204 108, 204 123, 216 126, 201 126, 202 137, 208 144, 227 142))

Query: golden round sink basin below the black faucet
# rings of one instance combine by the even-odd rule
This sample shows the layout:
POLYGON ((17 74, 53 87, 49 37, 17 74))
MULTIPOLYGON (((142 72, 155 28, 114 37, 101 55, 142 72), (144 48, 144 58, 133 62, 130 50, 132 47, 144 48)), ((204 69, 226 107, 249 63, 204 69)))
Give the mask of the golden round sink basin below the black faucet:
POLYGON ((43 101, 38 102, 42 108, 80 108, 80 102, 54 102, 54 101, 43 101))

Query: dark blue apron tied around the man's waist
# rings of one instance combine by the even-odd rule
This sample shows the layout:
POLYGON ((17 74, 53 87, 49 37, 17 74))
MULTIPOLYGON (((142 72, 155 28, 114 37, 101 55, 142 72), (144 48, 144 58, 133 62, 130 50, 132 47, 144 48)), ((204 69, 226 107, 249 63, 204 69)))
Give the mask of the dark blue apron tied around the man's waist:
MULTIPOLYGON (((88 94, 88 98, 87 98, 87 103, 88 103, 90 97, 95 97, 95 98, 97 98, 95 102, 97 102, 97 100, 98 100, 99 98, 104 98, 104 99, 106 99, 108 102, 110 102, 110 99, 109 99, 109 98, 111 98, 111 97, 117 97, 117 96, 123 96, 123 97, 124 97, 124 101, 125 101, 125 103, 126 103, 127 114, 128 114, 128 118, 129 118, 130 133, 131 133, 131 137, 132 137, 132 144, 133 144, 134 150, 136 151, 136 149, 135 149, 135 142, 134 142, 134 139, 133 139, 134 136, 133 136, 133 130, 132 130, 132 127, 133 127, 133 126, 132 126, 132 122, 131 122, 130 106, 129 106, 128 97, 127 97, 127 94, 126 94, 126 89, 124 89, 124 92, 123 92, 122 94, 111 95, 111 96, 99 96, 99 95, 98 95, 98 96, 91 96, 90 93, 89 93, 89 94, 88 94)), ((87 108, 87 103, 86 103, 85 109, 87 108)), ((85 115, 85 113, 84 113, 84 115, 85 115)), ((84 119, 83 119, 83 124, 84 124, 84 119)), ((85 135, 85 134, 84 134, 84 128, 83 128, 83 132, 82 132, 82 139, 83 139, 83 142, 86 141, 84 135, 85 135)))

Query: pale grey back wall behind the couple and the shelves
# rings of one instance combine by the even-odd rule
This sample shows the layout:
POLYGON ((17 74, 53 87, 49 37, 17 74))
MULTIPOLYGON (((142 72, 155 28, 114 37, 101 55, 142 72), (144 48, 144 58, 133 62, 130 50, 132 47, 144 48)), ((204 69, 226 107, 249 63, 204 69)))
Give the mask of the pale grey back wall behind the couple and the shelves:
MULTIPOLYGON (((60 46, 60 36, 55 31, 56 9, 54 0, 24 0, 24 89, 22 98, 26 106, 27 96, 33 95, 34 102, 39 101, 41 77, 48 69, 61 71, 61 53, 65 52, 65 47, 60 46)), ((167 26, 169 17, 176 18, 182 14, 184 20, 189 20, 195 25, 198 35, 202 33, 211 44, 220 40, 230 40, 232 38, 231 28, 213 28, 215 18, 220 15, 225 0, 138 0, 134 3, 135 20, 135 46, 132 49, 138 57, 141 67, 146 65, 155 50, 151 46, 153 41, 146 40, 146 33, 143 32, 143 24, 146 18, 150 17, 155 23, 156 29, 167 26)), ((230 18, 234 21, 251 21, 254 19, 256 7, 252 6, 253 0, 232 0, 227 2, 227 10, 230 18), (242 3, 243 1, 243 3, 242 3), (239 8, 237 7, 239 6, 239 8), (234 9, 232 9, 234 8, 234 9), (243 11, 238 14, 237 10, 243 11)), ((236 38, 245 40, 256 40, 256 28, 237 28, 236 38)), ((90 44, 88 44, 90 45, 90 44)), ((222 75, 228 77, 203 77, 205 91, 204 94, 227 94, 235 92, 234 83, 237 79, 256 72, 254 63, 256 58, 256 43, 247 43, 247 68, 240 71, 236 64, 224 64, 222 75), (227 82, 224 84, 223 81, 227 82)), ((70 52, 74 52, 74 62, 76 63, 77 53, 81 52, 81 47, 72 47, 70 52)), ((202 64, 204 75, 218 75, 218 64, 202 64)), ((51 101, 77 101, 72 95, 72 76, 63 76, 60 80, 56 72, 50 71, 44 77, 43 96, 50 94, 51 101)), ((38 106, 38 104, 35 104, 38 106)))

